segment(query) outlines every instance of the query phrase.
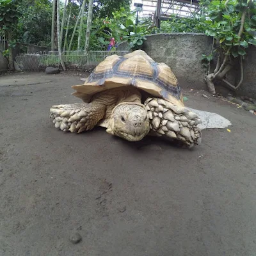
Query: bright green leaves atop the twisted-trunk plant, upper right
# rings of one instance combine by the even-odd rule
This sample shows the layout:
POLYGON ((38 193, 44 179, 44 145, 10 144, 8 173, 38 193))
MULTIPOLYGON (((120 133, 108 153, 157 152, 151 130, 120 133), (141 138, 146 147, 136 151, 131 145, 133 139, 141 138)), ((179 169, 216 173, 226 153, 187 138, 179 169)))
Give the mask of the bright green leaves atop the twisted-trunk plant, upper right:
POLYGON ((254 2, 241 0, 214 0, 205 4, 204 12, 209 17, 205 20, 208 28, 206 35, 214 36, 220 49, 234 58, 244 56, 248 44, 256 45, 252 31, 256 29, 256 6, 254 2), (225 3, 227 3, 225 5, 225 3), (241 17, 245 14, 243 33, 239 36, 241 17))

